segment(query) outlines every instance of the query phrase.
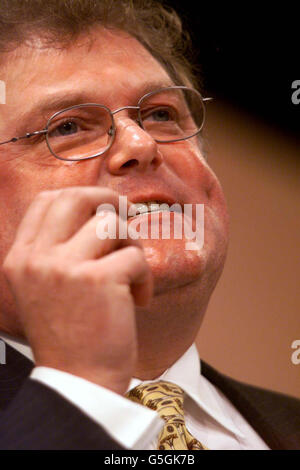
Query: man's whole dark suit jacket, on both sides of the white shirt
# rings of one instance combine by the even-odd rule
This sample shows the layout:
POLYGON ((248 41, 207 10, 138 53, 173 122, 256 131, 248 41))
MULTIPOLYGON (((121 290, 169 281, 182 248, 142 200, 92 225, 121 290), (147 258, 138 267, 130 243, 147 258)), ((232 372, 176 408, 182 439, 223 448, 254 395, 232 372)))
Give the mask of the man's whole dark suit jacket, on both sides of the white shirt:
MULTIPOLYGON (((7 345, 0 365, 0 449, 122 449, 57 392, 28 379, 32 367, 7 345)), ((271 449, 300 449, 300 400, 242 384, 203 361, 202 373, 271 449)))

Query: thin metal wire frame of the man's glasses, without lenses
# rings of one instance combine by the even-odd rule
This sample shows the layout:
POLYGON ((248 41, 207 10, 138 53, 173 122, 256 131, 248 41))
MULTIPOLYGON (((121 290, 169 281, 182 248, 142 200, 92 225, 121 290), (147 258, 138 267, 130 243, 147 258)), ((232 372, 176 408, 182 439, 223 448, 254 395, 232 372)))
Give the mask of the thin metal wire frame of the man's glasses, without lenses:
MULTIPOLYGON (((204 122, 205 122, 205 117, 206 117, 206 110, 205 110, 205 104, 204 102, 205 101, 211 101, 213 98, 203 98, 201 93, 199 93, 198 90, 194 89, 194 88, 191 88, 191 87, 187 87, 187 86, 169 86, 169 87, 163 87, 163 88, 159 88, 157 90, 154 90, 154 91, 151 91, 149 93, 146 93, 145 95, 143 95, 138 103, 137 103, 137 106, 122 106, 121 108, 118 108, 114 111, 111 111, 107 106, 103 105, 103 104, 98 104, 98 103, 83 103, 83 104, 75 104, 73 106, 70 106, 68 108, 65 108, 65 109, 62 109, 60 111, 57 111, 56 113, 54 113, 47 121, 46 123, 46 127, 42 130, 39 130, 39 131, 34 131, 34 132, 27 132, 25 135, 23 136, 20 136, 20 137, 13 137, 12 139, 10 140, 6 140, 4 142, 0 142, 0 145, 4 145, 4 144, 9 144, 9 143, 13 143, 13 142, 17 142, 19 140, 22 140, 22 139, 29 139, 30 137, 33 137, 33 136, 37 136, 37 135, 41 135, 41 134, 45 134, 45 137, 46 137, 46 143, 47 143, 47 147, 50 151, 50 153, 55 157, 57 158, 58 160, 62 160, 62 161, 83 161, 83 160, 91 160, 92 158, 97 158, 97 157, 100 157, 101 155, 103 155, 104 153, 106 153, 113 145, 114 143, 114 140, 115 140, 115 135, 116 135, 116 132, 117 132, 117 128, 116 128, 116 124, 115 124, 115 119, 114 119, 114 115, 119 113, 120 111, 124 111, 125 109, 132 109, 132 110, 136 110, 138 113, 138 117, 136 119, 136 122, 138 123, 138 125, 141 127, 141 129, 143 129, 145 132, 148 133, 148 131, 145 129, 145 127, 143 126, 143 120, 142 120, 142 116, 141 116, 141 105, 143 103, 143 101, 145 101, 147 98, 149 98, 150 96, 152 95, 155 95, 157 93, 160 93, 162 91, 165 91, 165 90, 176 90, 176 89, 181 89, 181 90, 192 90, 194 93, 196 93, 198 95, 198 97, 200 98, 200 101, 202 103, 202 108, 203 108, 203 119, 202 119, 202 124, 201 124, 201 127, 197 130, 197 132, 194 132, 194 134, 188 136, 188 137, 181 137, 179 139, 172 139, 172 140, 159 140, 159 139, 155 139, 154 137, 153 140, 157 143, 161 143, 161 144, 167 144, 167 143, 174 143, 174 142, 180 142, 180 141, 184 141, 184 140, 188 140, 188 139, 191 139, 192 137, 195 137, 196 135, 198 135, 201 130, 203 129, 203 126, 204 126, 204 122), (48 132, 49 132, 49 126, 52 122, 52 120, 59 116, 60 114, 62 113, 65 113, 66 111, 70 111, 72 109, 78 109, 78 108, 82 108, 82 107, 86 107, 86 106, 95 106, 95 107, 99 107, 99 108, 102 108, 102 109, 105 109, 109 114, 110 114, 110 117, 111 117, 111 121, 112 121, 112 126, 111 128, 109 129, 108 131, 108 135, 111 137, 110 139, 110 142, 108 144, 108 146, 102 150, 101 152, 95 154, 95 155, 92 155, 91 157, 85 157, 85 158, 62 158, 60 157, 59 155, 56 155, 56 153, 52 150, 51 148, 51 145, 49 143, 49 138, 48 138, 48 132)), ((151 135, 151 134, 149 134, 151 135)))

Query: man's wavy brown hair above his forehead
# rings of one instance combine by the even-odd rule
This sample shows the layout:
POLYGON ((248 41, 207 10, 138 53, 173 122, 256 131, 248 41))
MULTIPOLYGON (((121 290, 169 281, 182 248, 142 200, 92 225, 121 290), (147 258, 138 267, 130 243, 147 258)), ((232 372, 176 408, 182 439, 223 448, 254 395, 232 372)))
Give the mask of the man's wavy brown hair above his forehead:
POLYGON ((156 0, 1 0, 0 53, 30 45, 34 37, 46 47, 67 47, 97 25, 127 31, 175 84, 200 87, 179 16, 156 0))

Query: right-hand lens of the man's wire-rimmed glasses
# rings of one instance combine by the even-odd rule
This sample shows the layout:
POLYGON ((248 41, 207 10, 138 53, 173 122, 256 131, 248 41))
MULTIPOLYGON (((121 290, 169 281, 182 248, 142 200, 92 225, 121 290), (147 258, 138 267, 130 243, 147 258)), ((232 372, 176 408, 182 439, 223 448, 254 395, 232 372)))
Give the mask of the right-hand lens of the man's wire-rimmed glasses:
POLYGON ((204 122, 201 95, 192 88, 165 88, 140 102, 144 129, 158 142, 174 142, 200 132, 204 122))

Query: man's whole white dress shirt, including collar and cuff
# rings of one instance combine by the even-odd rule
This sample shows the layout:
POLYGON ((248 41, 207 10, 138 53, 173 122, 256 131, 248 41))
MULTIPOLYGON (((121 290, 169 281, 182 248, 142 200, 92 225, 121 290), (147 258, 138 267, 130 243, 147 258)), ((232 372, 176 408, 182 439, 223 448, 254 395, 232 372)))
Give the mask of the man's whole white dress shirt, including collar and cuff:
MULTIPOLYGON (((29 346, 2 338, 34 361, 29 346)), ((49 367, 35 367, 30 378, 56 390, 127 449, 155 449, 163 421, 156 411, 131 402, 81 377, 49 367)), ((211 450, 267 450, 268 446, 229 400, 203 375, 192 345, 156 380, 179 385, 185 392, 185 421, 191 434, 211 450)), ((145 383, 154 382, 147 381, 145 383)), ((142 383, 133 378, 129 389, 142 383)))

